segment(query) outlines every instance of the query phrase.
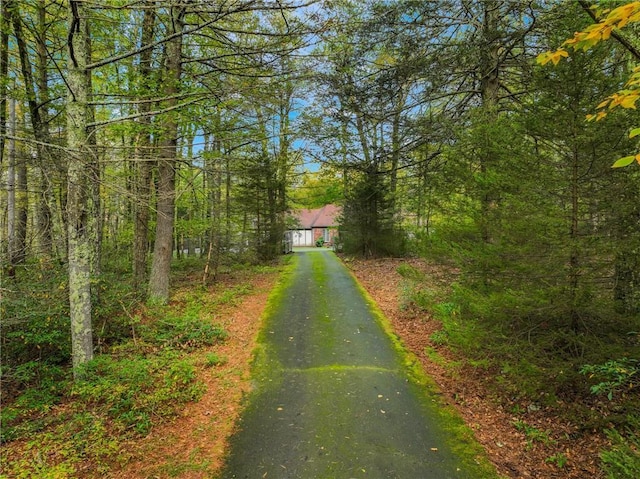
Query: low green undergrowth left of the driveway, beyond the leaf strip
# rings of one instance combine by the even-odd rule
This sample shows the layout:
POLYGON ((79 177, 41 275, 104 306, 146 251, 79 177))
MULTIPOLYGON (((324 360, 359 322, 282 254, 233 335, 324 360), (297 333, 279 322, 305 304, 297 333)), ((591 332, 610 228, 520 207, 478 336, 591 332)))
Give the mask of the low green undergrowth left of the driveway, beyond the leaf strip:
POLYGON ((15 318, 3 320, 0 338, 0 478, 100 477, 127 459, 124 441, 201 397, 198 370, 225 362, 211 349, 199 353, 228 336, 216 314, 251 287, 190 284, 189 271, 201 267, 191 263, 177 268, 187 283, 167 306, 142 305, 121 279, 99 283, 97 355, 76 381, 63 275, 51 270, 16 283, 0 305, 3 318, 15 318), (81 469, 87 464, 90 472, 81 469))

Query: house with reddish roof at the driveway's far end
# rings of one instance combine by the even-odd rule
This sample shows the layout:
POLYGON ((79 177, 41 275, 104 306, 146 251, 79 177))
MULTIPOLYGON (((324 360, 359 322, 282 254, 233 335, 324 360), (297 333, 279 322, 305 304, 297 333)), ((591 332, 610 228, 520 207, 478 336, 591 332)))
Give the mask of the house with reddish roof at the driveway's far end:
POLYGON ((292 216, 297 229, 290 230, 293 246, 315 246, 322 238, 325 244, 332 244, 338 235, 338 219, 342 210, 336 205, 325 205, 314 210, 297 210, 292 216))

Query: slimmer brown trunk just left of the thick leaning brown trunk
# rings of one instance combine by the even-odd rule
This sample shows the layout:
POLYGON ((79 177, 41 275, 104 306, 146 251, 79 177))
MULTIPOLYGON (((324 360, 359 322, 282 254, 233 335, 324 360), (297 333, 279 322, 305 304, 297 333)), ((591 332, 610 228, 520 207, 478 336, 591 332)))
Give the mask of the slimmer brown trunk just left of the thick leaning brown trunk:
MULTIPOLYGON (((152 2, 151 7, 155 6, 152 2)), ((142 21, 142 37, 140 46, 149 45, 153 40, 156 14, 153 8, 147 8, 142 21)), ((145 90, 151 84, 151 48, 140 54, 140 76, 145 90)), ((151 202, 151 103, 140 104, 140 132, 136 140, 136 160, 133 169, 135 175, 134 201, 134 245, 133 245, 133 282, 136 290, 140 290, 147 276, 147 252, 149 250, 149 206, 151 202)))

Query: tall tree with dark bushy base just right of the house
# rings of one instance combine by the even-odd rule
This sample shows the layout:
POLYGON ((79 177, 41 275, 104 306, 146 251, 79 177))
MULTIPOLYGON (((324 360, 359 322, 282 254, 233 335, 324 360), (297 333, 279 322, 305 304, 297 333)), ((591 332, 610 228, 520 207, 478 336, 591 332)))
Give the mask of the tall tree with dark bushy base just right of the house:
MULTIPOLYGON (((342 226, 345 248, 365 256, 398 252, 397 171, 406 153, 406 105, 411 74, 397 65, 390 46, 380 42, 376 12, 352 2, 330 14, 361 26, 351 37, 329 31, 316 66, 319 117, 309 118, 309 136, 324 153, 323 161, 343 171, 345 199, 342 226), (356 41, 354 41, 356 39, 356 41)), ((375 5, 374 5, 375 7, 375 5)))

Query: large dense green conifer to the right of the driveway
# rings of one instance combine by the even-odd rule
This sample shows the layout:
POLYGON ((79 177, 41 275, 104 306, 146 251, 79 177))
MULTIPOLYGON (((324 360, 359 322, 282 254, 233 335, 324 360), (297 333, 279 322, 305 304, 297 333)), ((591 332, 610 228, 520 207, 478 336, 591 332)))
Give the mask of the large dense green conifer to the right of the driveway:
MULTIPOLYGON (((580 9, 566 12, 566 5, 536 12, 535 43, 524 43, 522 53, 531 58, 588 21, 580 9)), ((621 183, 602 159, 625 148, 625 141, 613 124, 597 128, 585 115, 620 81, 625 66, 620 51, 600 48, 552 72, 536 67, 520 77, 521 84, 506 84, 523 92, 518 102, 503 98, 491 120, 479 103, 477 116, 469 116, 471 127, 465 125, 445 152, 445 171, 456 175, 458 187, 443 203, 446 220, 436 225, 437 236, 453 246, 450 254, 461 266, 454 301, 493 337, 530 331, 531 341, 557 341, 554 352, 571 356, 586 331, 617 315, 610 274, 622 244, 608 192, 619 191, 621 183), (490 161, 486 172, 479 164, 484 158, 490 161), (486 191, 495 195, 489 208, 483 208, 486 191)), ((619 200, 617 209, 633 211, 635 202, 629 194, 629 203, 619 200)), ((628 226, 625 232, 634 244, 635 234, 628 226)), ((636 261, 633 249, 627 252, 621 271, 636 261)), ((628 269, 621 274, 629 289, 620 296, 631 304, 635 278, 628 269)))

